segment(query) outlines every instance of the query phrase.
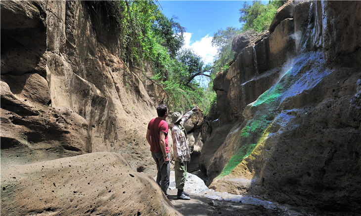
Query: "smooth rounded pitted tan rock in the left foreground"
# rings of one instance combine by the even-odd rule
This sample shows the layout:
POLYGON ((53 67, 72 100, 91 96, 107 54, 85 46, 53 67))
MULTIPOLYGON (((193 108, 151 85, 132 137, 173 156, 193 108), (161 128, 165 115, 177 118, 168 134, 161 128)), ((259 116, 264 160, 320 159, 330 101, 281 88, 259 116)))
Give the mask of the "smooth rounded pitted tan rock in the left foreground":
POLYGON ((1 169, 1 215, 181 215, 157 183, 118 153, 1 169))

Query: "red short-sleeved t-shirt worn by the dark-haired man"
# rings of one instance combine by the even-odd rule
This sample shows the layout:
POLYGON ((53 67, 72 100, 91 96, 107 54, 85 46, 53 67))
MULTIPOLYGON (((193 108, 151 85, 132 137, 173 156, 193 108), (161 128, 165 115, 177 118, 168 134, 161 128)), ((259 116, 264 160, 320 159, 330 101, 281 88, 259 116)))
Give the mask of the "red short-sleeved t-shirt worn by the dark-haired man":
POLYGON ((161 118, 153 118, 148 123, 148 129, 150 130, 150 151, 156 153, 163 153, 159 144, 159 134, 162 131, 166 134, 165 142, 166 142, 166 151, 169 153, 168 147, 168 123, 161 118))

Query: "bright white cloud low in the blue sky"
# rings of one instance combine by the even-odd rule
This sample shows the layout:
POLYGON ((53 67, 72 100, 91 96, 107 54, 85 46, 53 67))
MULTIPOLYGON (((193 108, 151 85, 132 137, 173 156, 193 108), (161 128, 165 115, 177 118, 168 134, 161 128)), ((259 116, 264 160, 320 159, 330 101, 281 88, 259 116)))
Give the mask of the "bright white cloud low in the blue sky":
POLYGON ((205 64, 213 63, 215 56, 217 55, 217 47, 212 46, 213 37, 206 35, 201 40, 191 41, 192 34, 184 33, 184 45, 183 48, 191 48, 199 55, 205 64))

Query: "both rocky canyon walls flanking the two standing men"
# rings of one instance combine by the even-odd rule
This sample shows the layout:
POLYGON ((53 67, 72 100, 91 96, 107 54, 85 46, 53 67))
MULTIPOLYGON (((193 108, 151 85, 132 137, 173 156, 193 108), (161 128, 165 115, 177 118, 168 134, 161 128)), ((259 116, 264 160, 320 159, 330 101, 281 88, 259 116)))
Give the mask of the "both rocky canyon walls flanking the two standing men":
MULTIPOLYGON (((167 94, 149 62, 124 62, 118 31, 94 1, 1 1, 1 215, 181 215, 145 139, 167 94)), ((214 191, 360 215, 361 1, 289 0, 232 49, 217 107, 185 125, 190 171, 214 191)))

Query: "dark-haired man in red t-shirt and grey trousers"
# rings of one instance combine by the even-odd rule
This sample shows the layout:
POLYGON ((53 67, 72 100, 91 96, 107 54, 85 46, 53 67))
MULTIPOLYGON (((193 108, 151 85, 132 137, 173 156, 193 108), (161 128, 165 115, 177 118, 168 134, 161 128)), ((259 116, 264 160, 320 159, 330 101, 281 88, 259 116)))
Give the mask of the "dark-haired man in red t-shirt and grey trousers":
POLYGON ((167 196, 171 173, 168 147, 168 123, 166 122, 166 117, 168 116, 167 105, 159 105, 157 107, 157 114, 158 117, 153 118, 148 123, 146 139, 150 145, 152 157, 157 164, 158 173, 156 182, 167 196))

